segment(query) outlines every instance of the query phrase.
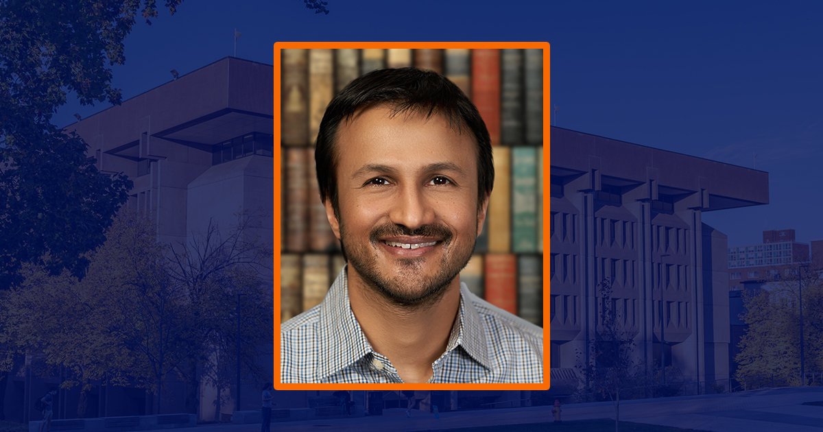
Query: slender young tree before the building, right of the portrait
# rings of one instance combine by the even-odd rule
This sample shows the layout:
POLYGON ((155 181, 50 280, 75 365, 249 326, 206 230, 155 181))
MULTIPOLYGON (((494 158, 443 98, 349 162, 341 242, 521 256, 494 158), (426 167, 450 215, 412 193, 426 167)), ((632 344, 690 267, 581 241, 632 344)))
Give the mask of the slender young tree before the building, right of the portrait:
POLYGON ((590 358, 578 352, 578 369, 584 377, 582 392, 607 399, 615 408, 615 431, 619 430, 621 397, 639 397, 645 374, 635 353, 635 336, 623 326, 623 317, 613 301, 612 281, 597 284, 597 315, 600 320, 589 341, 590 358))

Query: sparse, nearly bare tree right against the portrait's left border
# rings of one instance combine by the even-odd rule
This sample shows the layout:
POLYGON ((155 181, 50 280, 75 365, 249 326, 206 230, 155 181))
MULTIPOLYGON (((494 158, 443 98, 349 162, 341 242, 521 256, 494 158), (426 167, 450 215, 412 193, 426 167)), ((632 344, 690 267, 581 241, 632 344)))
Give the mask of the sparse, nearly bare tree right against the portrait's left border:
MULTIPOLYGON (((237 365, 254 376, 263 373, 256 360, 259 346, 269 341, 266 330, 273 324, 271 290, 262 283, 271 270, 266 265, 271 252, 250 233, 257 219, 239 215, 225 234, 210 221, 202 235, 171 249, 170 276, 184 287, 200 323, 194 336, 198 356, 192 357, 199 364, 188 367, 193 391, 209 383, 220 394, 236 378, 237 365)), ((219 410, 221 397, 217 402, 219 410)))

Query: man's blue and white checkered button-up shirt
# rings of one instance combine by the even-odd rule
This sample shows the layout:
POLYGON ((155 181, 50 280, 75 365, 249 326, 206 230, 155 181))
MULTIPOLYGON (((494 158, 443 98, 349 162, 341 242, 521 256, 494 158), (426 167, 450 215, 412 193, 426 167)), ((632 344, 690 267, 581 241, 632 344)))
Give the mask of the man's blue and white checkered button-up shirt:
MULTIPOLYGON (((402 383, 349 304, 344 267, 323 303, 281 327, 282 383, 402 383)), ((460 314, 430 383, 542 383, 543 329, 460 284, 460 314)))

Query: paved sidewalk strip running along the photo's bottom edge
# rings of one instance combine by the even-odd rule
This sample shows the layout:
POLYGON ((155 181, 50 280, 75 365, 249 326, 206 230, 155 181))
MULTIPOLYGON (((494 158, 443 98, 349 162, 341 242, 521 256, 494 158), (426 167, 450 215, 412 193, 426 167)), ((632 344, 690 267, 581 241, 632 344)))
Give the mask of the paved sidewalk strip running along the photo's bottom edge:
MULTIPOLYGON (((723 432, 823 432, 823 388, 774 388, 754 392, 666 397, 621 402, 621 420, 684 429, 723 432)), ((614 418, 611 402, 563 406, 563 420, 614 418)), ((272 430, 443 430, 472 426, 516 425, 551 421, 551 406, 434 414, 412 411, 412 417, 386 415, 347 419, 273 423, 272 430)), ((256 432, 260 425, 202 425, 189 432, 256 432)))

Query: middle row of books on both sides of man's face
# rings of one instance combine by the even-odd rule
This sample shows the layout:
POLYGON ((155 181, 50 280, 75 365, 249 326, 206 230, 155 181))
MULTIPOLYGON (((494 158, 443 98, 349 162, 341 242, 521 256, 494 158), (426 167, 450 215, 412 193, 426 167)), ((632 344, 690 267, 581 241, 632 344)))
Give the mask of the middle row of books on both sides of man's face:
MULTIPOLYGON (((476 253, 542 253, 543 149, 493 148, 495 186, 476 253)), ((285 252, 335 252, 337 239, 320 202, 314 148, 285 147, 281 248, 285 252)))

